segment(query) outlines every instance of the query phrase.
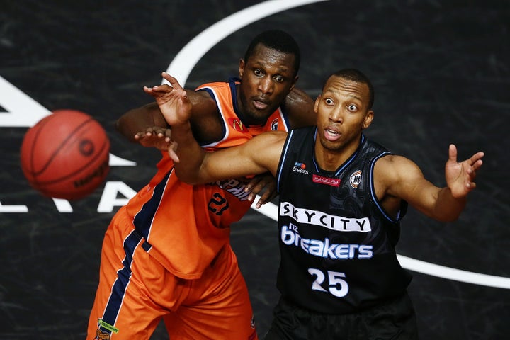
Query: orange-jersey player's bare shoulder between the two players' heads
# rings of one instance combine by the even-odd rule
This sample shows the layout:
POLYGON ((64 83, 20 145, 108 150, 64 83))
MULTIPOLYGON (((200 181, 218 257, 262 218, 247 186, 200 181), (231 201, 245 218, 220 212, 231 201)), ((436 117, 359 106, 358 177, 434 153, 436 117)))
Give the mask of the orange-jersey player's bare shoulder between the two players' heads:
POLYGON ((293 129, 315 125, 314 100, 305 91, 294 88, 285 98, 285 108, 293 129))

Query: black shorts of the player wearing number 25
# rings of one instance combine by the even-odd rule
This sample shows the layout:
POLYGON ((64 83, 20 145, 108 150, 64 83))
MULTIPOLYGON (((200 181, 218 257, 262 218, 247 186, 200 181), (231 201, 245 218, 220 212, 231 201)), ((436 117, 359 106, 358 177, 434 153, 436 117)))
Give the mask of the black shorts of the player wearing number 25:
POLYGON ((352 314, 320 314, 280 299, 264 340, 417 340, 407 294, 352 314))

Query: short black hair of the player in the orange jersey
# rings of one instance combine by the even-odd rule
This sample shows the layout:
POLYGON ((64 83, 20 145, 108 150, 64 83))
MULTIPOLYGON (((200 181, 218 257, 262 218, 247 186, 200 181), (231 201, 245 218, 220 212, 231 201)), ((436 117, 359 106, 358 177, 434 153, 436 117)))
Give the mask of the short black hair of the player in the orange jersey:
POLYGON ((297 74, 301 63, 301 52, 292 35, 283 30, 266 30, 259 33, 259 35, 256 35, 256 37, 251 40, 250 45, 246 49, 244 62, 248 62, 249 57, 254 54, 255 47, 259 44, 271 48, 271 50, 294 55, 294 72, 297 74))

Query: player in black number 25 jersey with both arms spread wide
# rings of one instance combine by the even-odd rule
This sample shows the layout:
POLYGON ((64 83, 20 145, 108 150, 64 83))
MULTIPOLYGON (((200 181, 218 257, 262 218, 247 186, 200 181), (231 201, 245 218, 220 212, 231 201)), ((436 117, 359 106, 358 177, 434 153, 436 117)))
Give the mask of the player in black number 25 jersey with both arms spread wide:
POLYGON ((188 183, 271 171, 276 176, 281 297, 269 339, 418 339, 409 274, 395 245, 410 204, 439 220, 458 218, 475 188, 483 152, 457 162, 449 147, 438 188, 411 160, 369 141, 373 87, 356 69, 327 79, 315 101, 317 127, 266 132, 239 147, 205 153, 188 123, 191 103, 174 87, 147 89, 173 127, 169 150, 188 183))

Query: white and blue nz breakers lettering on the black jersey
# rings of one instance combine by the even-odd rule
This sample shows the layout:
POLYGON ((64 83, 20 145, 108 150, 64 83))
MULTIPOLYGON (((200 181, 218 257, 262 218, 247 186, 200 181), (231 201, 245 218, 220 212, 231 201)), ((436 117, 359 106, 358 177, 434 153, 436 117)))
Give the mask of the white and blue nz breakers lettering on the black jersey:
POLYGON ((280 238, 288 246, 297 246, 310 255, 328 259, 370 259, 373 257, 373 246, 370 244, 330 244, 329 239, 302 238, 297 226, 290 223, 281 229, 280 238))

